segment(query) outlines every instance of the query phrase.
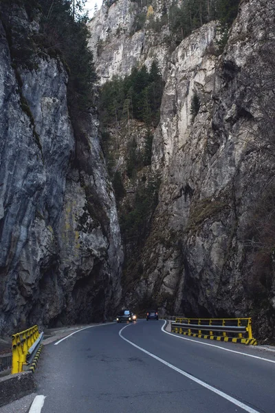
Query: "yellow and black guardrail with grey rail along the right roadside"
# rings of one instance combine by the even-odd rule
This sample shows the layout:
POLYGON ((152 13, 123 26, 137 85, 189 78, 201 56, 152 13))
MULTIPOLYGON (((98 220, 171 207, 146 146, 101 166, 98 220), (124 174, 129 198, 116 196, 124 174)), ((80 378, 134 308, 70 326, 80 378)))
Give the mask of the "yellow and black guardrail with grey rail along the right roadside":
POLYGON ((233 343, 250 344, 256 346, 256 339, 252 336, 251 318, 236 319, 195 319, 175 317, 171 323, 172 332, 211 339, 217 341, 232 341, 233 343))

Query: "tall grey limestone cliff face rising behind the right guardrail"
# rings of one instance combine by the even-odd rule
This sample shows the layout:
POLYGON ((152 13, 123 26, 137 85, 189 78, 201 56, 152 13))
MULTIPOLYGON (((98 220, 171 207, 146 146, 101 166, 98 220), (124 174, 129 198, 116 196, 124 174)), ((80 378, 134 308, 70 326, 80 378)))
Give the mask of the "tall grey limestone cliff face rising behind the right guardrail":
MULTIPOLYGON (((173 303, 173 313, 254 315, 245 230, 274 165, 253 133, 259 108, 248 101, 244 78, 259 59, 265 18, 263 2, 243 1, 221 56, 211 54, 215 28, 209 23, 170 59, 153 142, 162 191, 140 294, 157 286, 157 301, 173 303), (192 122, 195 92, 201 106, 192 122), (165 241, 155 248, 159 234, 165 241)), ((274 275, 272 285, 274 297, 274 275)))

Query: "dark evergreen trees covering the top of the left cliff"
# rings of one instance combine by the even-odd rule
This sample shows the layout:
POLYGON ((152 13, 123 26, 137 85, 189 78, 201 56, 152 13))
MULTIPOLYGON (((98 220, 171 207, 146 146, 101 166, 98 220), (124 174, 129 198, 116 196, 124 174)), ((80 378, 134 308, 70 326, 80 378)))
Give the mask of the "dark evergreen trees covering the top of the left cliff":
POLYGON ((74 123, 94 107, 92 93, 96 72, 88 45, 87 17, 83 1, 4 0, 1 20, 5 25, 14 67, 37 69, 36 56, 63 61, 69 74, 67 97, 74 123), (27 11, 29 25, 20 8, 27 11), (31 23, 39 22, 39 31, 31 23))

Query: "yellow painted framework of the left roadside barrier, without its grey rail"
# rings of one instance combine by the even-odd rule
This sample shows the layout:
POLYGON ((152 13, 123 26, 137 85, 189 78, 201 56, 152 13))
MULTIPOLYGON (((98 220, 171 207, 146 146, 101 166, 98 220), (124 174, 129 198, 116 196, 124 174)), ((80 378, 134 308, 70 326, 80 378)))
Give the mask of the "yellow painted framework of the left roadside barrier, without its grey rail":
POLYGON ((28 364, 28 351, 38 338, 38 326, 12 335, 12 374, 23 372, 23 366, 28 364))

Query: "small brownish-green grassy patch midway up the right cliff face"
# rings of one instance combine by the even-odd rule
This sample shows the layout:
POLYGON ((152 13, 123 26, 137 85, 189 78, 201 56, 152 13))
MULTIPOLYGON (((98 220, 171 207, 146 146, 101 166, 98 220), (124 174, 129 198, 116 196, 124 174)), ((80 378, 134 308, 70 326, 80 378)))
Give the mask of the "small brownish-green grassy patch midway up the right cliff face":
POLYGON ((204 198, 192 203, 186 232, 197 231, 205 220, 219 214, 226 208, 229 208, 226 202, 212 200, 212 198, 204 198))

